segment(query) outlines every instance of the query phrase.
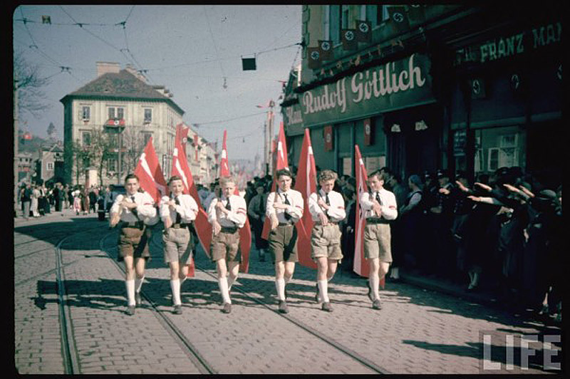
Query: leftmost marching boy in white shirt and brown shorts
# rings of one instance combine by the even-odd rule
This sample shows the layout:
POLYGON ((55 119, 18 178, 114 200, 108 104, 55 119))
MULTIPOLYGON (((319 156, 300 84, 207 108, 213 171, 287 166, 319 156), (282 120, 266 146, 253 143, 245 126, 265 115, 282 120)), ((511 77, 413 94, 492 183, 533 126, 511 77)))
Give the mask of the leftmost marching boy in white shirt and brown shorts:
POLYGON ((158 222, 155 201, 148 192, 138 192, 138 177, 129 174, 125 177, 126 194, 120 194, 110 209, 110 227, 120 224, 118 239, 118 261, 125 261, 125 285, 127 287, 128 315, 135 313, 135 305, 140 306, 140 289, 145 279, 145 262, 150 258, 147 225, 158 222), (136 272, 136 278, 135 278, 136 272))

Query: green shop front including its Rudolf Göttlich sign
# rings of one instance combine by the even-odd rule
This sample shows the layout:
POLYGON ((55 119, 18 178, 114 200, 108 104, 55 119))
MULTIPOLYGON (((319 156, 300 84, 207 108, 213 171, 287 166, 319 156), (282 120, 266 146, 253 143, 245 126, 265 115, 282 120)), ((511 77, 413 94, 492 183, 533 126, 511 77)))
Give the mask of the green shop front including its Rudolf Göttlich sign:
POLYGON ((316 165, 339 175, 354 175, 354 145, 368 172, 390 167, 408 176, 435 169, 440 160, 442 112, 423 54, 363 68, 297 95, 296 103, 282 106, 290 162, 299 161, 304 128, 316 165))

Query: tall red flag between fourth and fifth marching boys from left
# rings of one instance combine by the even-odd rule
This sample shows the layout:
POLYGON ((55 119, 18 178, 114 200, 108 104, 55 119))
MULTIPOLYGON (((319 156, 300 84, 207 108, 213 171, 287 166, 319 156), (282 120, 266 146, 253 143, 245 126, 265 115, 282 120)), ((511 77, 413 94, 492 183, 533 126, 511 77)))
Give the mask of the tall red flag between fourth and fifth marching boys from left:
POLYGON ((316 269, 316 263, 311 259, 311 232, 313 230, 313 218, 309 212, 309 196, 316 192, 316 166, 311 147, 309 129, 305 129, 303 147, 299 155, 299 166, 295 181, 295 190, 301 192, 304 201, 303 217, 297 222, 297 251, 299 251, 299 264, 316 269))

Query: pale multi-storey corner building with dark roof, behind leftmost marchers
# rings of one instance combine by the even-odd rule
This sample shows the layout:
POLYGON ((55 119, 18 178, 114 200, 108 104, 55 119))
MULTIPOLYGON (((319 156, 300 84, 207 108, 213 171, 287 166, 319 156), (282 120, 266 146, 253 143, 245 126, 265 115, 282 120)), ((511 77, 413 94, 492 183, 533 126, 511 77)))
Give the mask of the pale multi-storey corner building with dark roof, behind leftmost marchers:
POLYGON ((184 115, 184 110, 172 100, 172 93, 163 86, 148 85, 130 66, 121 70, 118 63, 98 62, 97 73, 95 80, 61 99, 65 181, 84 184, 86 177, 95 171, 97 182, 103 185, 123 182, 125 175, 135 169, 150 137, 160 165, 170 171, 175 125, 182 123, 184 115), (111 130, 105 125, 113 123, 124 127, 120 133, 121 170, 118 170, 118 133, 106 136, 110 148, 104 158, 100 151, 99 155, 88 154, 105 145, 105 129, 111 130), (86 153, 77 154, 78 149, 86 153))

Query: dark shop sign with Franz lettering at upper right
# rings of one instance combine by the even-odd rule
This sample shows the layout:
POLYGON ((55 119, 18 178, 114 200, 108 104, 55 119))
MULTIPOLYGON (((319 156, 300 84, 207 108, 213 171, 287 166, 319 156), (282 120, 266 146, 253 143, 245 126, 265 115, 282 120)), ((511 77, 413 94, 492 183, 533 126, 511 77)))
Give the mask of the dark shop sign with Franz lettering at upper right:
POLYGON ((538 48, 558 43, 562 39, 562 23, 537 26, 527 31, 500 36, 455 51, 455 66, 467 62, 487 63, 517 56, 538 48))

